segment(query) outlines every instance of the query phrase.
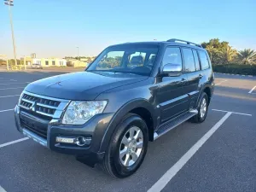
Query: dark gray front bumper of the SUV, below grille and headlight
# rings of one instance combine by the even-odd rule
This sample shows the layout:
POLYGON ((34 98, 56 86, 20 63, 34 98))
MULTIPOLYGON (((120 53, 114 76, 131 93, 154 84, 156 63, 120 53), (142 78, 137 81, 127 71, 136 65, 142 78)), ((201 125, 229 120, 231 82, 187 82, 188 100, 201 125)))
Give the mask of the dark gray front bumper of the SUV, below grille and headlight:
POLYGON ((104 152, 99 153, 99 148, 102 143, 102 137, 107 130, 110 120, 113 118, 113 113, 98 114, 84 125, 62 125, 61 120, 51 119, 47 122, 47 137, 40 137, 36 132, 26 129, 20 123, 20 118, 25 117, 32 125, 45 124, 43 119, 30 117, 20 110, 20 107, 15 107, 15 123, 17 130, 26 137, 32 138, 35 142, 40 143, 46 148, 62 154, 74 154, 77 156, 90 157, 92 161, 100 161, 104 157, 104 152), (56 137, 79 137, 89 138, 84 146, 78 146, 70 143, 57 143, 56 137))

